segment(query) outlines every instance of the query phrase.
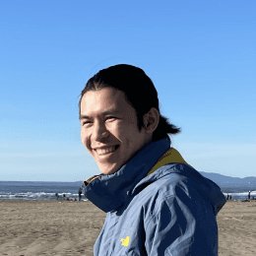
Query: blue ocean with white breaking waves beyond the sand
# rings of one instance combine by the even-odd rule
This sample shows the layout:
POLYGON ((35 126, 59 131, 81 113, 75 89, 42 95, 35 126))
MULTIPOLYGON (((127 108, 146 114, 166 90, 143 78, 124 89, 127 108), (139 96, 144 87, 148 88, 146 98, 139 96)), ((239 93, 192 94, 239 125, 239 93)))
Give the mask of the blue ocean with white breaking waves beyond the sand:
MULTIPOLYGON (((81 182, 39 182, 39 181, 0 181, 0 200, 78 200, 78 190, 83 185, 81 182), (65 194, 65 198, 63 195, 65 194)), ((228 191, 228 190, 227 190, 228 191)), ((232 189, 235 191, 235 189, 232 189)), ((224 192, 224 189, 223 189, 224 192)), ((226 196, 227 193, 224 192, 226 196)), ((228 193, 232 200, 248 199, 248 191, 235 191, 228 193)), ((251 199, 255 197, 256 190, 251 191, 251 199)), ((86 200, 82 195, 82 200, 86 200)))

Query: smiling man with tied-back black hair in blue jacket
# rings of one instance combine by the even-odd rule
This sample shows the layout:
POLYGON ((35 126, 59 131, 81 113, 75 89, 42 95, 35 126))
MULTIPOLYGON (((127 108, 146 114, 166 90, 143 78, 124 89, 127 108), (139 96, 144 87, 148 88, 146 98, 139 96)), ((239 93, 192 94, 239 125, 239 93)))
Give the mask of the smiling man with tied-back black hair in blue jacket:
POLYGON ((95 255, 218 255, 224 194, 170 148, 180 129, 160 114, 145 72, 100 70, 79 106, 82 142, 101 172, 84 182, 85 196, 106 213, 95 255))

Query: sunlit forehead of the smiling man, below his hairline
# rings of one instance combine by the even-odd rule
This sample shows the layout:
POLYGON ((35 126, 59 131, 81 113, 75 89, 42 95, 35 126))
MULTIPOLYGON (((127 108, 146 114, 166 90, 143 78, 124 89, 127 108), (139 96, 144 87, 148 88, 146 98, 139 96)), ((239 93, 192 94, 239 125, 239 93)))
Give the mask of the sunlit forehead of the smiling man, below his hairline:
POLYGON ((81 115, 108 111, 130 112, 132 109, 124 92, 113 88, 89 91, 81 100, 81 115))

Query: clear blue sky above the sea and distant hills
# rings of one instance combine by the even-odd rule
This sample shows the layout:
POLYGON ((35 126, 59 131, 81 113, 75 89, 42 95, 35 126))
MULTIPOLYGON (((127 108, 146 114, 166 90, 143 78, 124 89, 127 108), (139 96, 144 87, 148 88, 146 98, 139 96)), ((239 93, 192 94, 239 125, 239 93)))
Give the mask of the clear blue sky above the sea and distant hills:
POLYGON ((79 95, 102 68, 145 70, 172 147, 199 171, 256 176, 256 1, 1 1, 0 180, 98 174, 79 95))

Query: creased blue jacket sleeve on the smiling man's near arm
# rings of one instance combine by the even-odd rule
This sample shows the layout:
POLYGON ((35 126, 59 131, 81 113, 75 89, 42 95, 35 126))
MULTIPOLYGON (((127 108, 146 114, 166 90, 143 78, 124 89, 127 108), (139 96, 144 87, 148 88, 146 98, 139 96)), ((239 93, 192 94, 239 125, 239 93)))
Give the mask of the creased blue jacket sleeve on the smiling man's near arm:
POLYGON ((202 198, 182 194, 161 199, 145 226, 148 256, 217 256, 218 226, 211 208, 202 198))

